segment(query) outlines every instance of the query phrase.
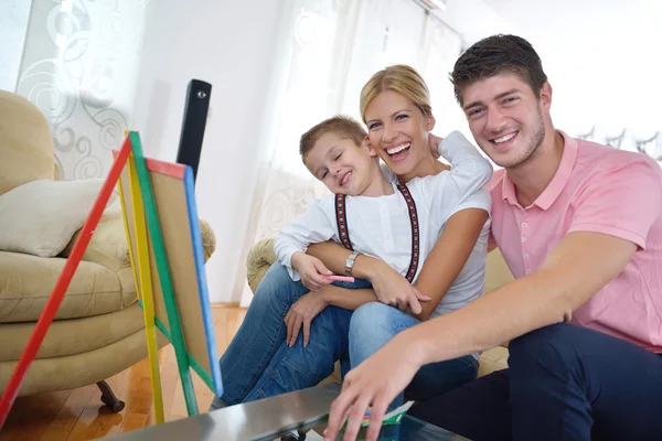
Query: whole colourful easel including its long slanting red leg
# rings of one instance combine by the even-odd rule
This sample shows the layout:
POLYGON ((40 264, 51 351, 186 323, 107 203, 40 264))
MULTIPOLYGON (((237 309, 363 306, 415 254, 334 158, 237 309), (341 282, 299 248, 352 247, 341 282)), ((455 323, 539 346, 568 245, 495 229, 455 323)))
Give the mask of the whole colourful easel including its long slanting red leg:
MULTIPOLYGON (((153 399, 157 407, 157 422, 162 422, 163 420, 163 405, 160 389, 157 354, 158 346, 156 343, 154 327, 159 329, 159 331, 173 343, 178 367, 182 378, 186 409, 190 416, 197 413, 197 404, 195 401, 193 384, 191 380, 191 368, 200 375, 203 381, 217 396, 223 394, 221 369, 217 363, 218 355, 213 332, 213 321, 204 272, 204 255, 202 237, 197 224, 192 170, 190 166, 181 164, 146 160, 142 154, 140 137, 137 132, 129 132, 121 149, 118 152, 115 152, 115 162, 85 219, 81 234, 53 287, 49 301, 34 326, 19 363, 2 392, 0 399, 0 430, 17 398, 28 368, 34 361, 46 332, 53 322, 55 313, 62 303, 62 299, 64 298, 72 278, 83 258, 85 249, 92 239, 110 194, 117 182, 122 181, 122 176, 125 176, 125 182, 120 182, 120 195, 122 197, 125 228, 127 238, 130 240, 129 255, 135 271, 136 289, 139 293, 140 305, 145 311, 143 318, 146 322, 150 370, 152 374, 153 399), (130 161, 129 157, 132 158, 130 161), (129 166, 126 166, 127 163, 129 166), (129 180, 126 180, 127 174, 124 173, 125 169, 127 170, 126 173, 128 173, 129 180), (156 179, 158 181, 158 176, 170 176, 171 179, 179 180, 179 186, 182 189, 184 195, 184 212, 186 215, 186 222, 182 223, 182 225, 189 225, 189 228, 183 229, 189 234, 182 235, 182 228, 181 225, 179 225, 175 226, 178 228, 174 230, 172 226, 167 227, 166 236, 163 236, 159 216, 161 216, 161 219, 166 219, 166 223, 168 223, 168 216, 163 217, 163 213, 160 213, 160 208, 170 206, 171 204, 166 202, 159 205, 158 200, 164 197, 166 201, 168 201, 171 195, 162 194, 162 191, 158 190, 158 185, 156 185, 156 193, 153 192, 154 189, 152 189, 151 180, 156 179), (134 184, 131 185, 129 181, 134 184), (130 192, 126 192, 127 189, 130 189, 130 192), (129 194, 131 195, 131 201, 130 203, 127 203, 127 196, 129 194), (154 194, 157 197, 154 197, 154 194), (131 207, 131 216, 128 215, 129 207, 131 207), (147 234, 140 233, 141 239, 137 240, 137 235, 134 234, 134 236, 131 236, 130 230, 131 225, 139 225, 141 227, 138 229, 134 228, 134 232, 145 232, 145 222, 141 222, 141 213, 143 219, 147 220, 147 234), (164 237, 166 240, 169 240, 169 237, 177 237, 180 239, 185 237, 190 240, 192 251, 185 255, 184 260, 188 259, 189 263, 191 263, 191 261, 193 262, 194 270, 192 272, 195 275, 193 279, 190 277, 181 279, 180 276, 182 276, 182 273, 183 276, 186 276, 186 271, 182 270, 180 266, 175 266, 173 284, 169 257, 172 256, 174 250, 167 249, 164 237), (140 251, 138 251, 138 243, 141 244, 140 251), (147 246, 148 243, 151 247, 147 246), (146 260, 146 257, 150 251, 150 259, 146 260), (148 271, 143 271, 143 269, 147 268, 149 268, 149 273, 147 273, 148 271), (154 275, 158 275, 158 277, 154 278, 154 275), (177 290, 175 288, 180 284, 178 280, 189 280, 189 286, 193 286, 190 281, 195 280, 197 295, 186 295, 190 294, 186 289, 177 290), (157 295, 153 293, 154 288, 157 288, 157 295), (192 301, 192 298, 196 299, 197 308, 194 306, 195 303, 192 301), (183 326, 179 311, 179 308, 182 305, 184 306, 183 311, 181 311, 184 316, 183 326), (163 310, 166 311, 164 313, 163 310), (202 331, 200 326, 202 326, 202 331), (200 340, 205 342, 203 346, 206 351, 201 351, 200 340), (189 347, 186 346, 186 342, 189 343, 189 347)), ((182 205, 181 202, 180 205, 182 205)), ((166 211, 166 215, 168 215, 168 209, 163 209, 166 211)), ((175 254, 175 257, 179 256, 175 254)), ((181 263, 181 260, 178 261, 178 263, 181 263)), ((190 273, 191 271, 188 272, 190 273)))

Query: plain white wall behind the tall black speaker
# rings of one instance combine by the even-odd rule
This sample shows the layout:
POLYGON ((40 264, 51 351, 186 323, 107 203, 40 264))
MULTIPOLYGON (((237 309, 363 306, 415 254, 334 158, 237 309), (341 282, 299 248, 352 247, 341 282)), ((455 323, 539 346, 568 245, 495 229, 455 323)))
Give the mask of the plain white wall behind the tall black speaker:
POLYGON ((199 215, 216 234, 206 263, 213 302, 238 301, 234 289, 260 158, 259 130, 271 82, 281 2, 273 0, 150 4, 138 100, 130 126, 146 154, 174 161, 189 80, 212 84, 196 182, 199 215))

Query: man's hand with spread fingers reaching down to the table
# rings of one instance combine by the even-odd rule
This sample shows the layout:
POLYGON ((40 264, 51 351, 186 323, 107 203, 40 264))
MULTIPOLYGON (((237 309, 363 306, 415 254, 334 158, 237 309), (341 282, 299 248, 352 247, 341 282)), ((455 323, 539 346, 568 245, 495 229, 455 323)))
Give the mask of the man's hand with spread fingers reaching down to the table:
POLYGON ((354 440, 365 410, 371 406, 366 440, 376 440, 388 404, 407 387, 420 368, 407 331, 396 335, 373 356, 350 370, 342 383, 342 392, 333 400, 324 440, 335 440, 349 415, 343 440, 354 440), (388 368, 385 368, 388 366, 388 368))

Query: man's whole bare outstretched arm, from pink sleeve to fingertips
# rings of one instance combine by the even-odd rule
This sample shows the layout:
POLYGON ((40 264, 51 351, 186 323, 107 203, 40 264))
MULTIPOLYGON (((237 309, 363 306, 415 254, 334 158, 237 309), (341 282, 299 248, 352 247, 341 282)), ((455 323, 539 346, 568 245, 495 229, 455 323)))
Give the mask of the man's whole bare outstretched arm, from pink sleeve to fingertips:
POLYGON ((325 439, 334 439, 348 412, 345 438, 354 439, 371 404, 367 439, 376 439, 377 421, 420 366, 483 351, 569 320, 574 310, 623 270, 636 251, 637 245, 613 236, 569 233, 537 272, 403 331, 348 374, 342 394, 331 406, 325 439))

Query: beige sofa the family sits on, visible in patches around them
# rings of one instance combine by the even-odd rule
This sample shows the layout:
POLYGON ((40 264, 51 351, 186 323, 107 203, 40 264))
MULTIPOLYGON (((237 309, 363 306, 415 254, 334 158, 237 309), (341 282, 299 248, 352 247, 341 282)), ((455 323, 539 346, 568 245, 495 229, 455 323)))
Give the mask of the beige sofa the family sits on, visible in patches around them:
MULTIPOLYGON (((253 246, 246 259, 248 286, 253 292, 255 292, 259 282, 265 277, 265 273, 274 262, 276 262, 274 239, 263 239, 253 246)), ((490 252, 488 255, 485 275, 485 294, 489 294, 511 280, 513 280, 513 276, 499 250, 490 252)), ((481 354, 478 376, 480 377, 505 367, 508 367, 508 348, 505 345, 492 347, 481 354)), ((333 375, 327 378, 324 383, 340 383, 340 365, 337 363, 333 375)))

